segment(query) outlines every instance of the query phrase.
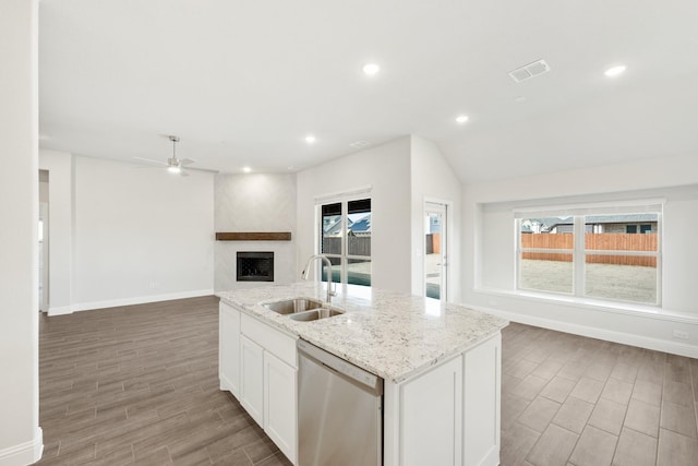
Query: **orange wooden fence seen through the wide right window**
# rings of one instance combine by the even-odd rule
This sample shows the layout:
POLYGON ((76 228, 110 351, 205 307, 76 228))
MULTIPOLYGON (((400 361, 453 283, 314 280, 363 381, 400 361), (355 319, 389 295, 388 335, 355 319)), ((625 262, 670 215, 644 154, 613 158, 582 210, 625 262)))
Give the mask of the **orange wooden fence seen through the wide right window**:
MULTIPOLYGON (((657 251, 655 234, 586 234, 585 248, 595 251, 657 251)), ((569 249, 569 253, 524 252, 521 259, 538 261, 571 262, 571 250, 575 247, 571 234, 522 234, 522 249, 569 249)), ((657 267, 657 258, 647 255, 605 255, 590 254, 586 256, 588 264, 615 264, 657 267)))

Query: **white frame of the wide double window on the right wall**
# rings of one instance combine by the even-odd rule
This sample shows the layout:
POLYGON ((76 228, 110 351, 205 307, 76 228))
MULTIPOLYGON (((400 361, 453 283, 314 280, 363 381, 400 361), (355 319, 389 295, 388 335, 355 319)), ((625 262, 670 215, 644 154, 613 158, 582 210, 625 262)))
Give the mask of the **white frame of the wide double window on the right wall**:
MULTIPOLYGON (((646 210, 636 205, 615 205, 609 207, 606 204, 599 206, 574 206, 569 208, 555 207, 554 211, 549 210, 524 210, 515 211, 515 229, 516 229, 516 283, 515 287, 517 291, 535 292, 549 296, 564 296, 576 299, 589 299, 594 301, 607 301, 624 304, 634 306, 648 306, 660 308, 662 306, 662 242, 663 242, 663 203, 657 204, 651 202, 641 202, 640 204, 647 204, 646 210), (657 251, 631 251, 631 250, 593 250, 586 247, 586 218, 594 215, 611 215, 611 214, 655 214, 657 215, 657 231, 650 231, 657 234, 657 251), (526 218, 531 217, 571 217, 573 219, 573 232, 574 232, 574 247, 573 249, 540 249, 540 248, 524 248, 521 244, 521 224, 526 218), (538 253, 558 253, 570 254, 573 261, 573 288, 571 292, 564 291, 550 291, 534 288, 521 287, 521 261, 525 252, 538 252, 538 253), (657 279, 655 279, 655 302, 634 301, 622 298, 609 298, 589 296, 587 294, 587 256, 588 255, 614 255, 614 256, 652 256, 657 262, 657 279)), ((595 232, 595 231, 590 231, 595 232)), ((647 232, 643 232, 647 234, 647 232)), ((638 229, 637 235, 640 235, 638 229)))

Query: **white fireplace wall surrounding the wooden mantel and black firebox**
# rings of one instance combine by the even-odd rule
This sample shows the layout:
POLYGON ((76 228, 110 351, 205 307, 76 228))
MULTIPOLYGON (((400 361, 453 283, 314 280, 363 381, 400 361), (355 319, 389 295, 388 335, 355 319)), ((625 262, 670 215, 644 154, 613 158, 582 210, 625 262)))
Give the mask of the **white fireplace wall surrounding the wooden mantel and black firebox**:
POLYGON ((237 282, 238 251, 273 251, 274 283, 296 275, 296 175, 219 175, 215 188, 216 231, 290 231, 290 241, 216 241, 216 291, 268 285, 237 282))

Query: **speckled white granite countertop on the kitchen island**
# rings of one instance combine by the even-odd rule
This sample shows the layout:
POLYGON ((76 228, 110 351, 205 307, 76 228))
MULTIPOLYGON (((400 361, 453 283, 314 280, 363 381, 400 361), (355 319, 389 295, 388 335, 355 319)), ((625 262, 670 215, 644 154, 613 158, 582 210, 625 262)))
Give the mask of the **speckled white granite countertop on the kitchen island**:
POLYGON ((462 353, 508 324, 462 306, 351 285, 338 286, 332 300, 333 308, 346 313, 329 319, 297 322, 260 304, 299 297, 324 300, 325 289, 324 285, 302 282, 216 296, 394 383, 462 353))

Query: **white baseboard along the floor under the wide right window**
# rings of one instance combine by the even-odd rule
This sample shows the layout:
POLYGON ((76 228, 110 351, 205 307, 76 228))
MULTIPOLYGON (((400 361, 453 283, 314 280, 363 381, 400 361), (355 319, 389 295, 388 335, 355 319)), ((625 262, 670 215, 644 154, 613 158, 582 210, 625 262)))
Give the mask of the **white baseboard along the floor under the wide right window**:
POLYGON ((512 322, 540 326, 543 328, 571 333, 575 335, 588 336, 591 338, 605 339, 607 342, 637 346, 655 351, 671 353, 672 355, 686 356, 688 358, 698 358, 698 347, 694 345, 686 345, 683 343, 670 342, 661 338, 652 338, 650 336, 634 335, 629 333, 610 331, 587 325, 573 324, 569 322, 539 318, 535 315, 519 314, 517 312, 502 311, 498 309, 484 308, 482 306, 468 306, 468 308, 486 312, 489 314, 494 314, 512 322))

